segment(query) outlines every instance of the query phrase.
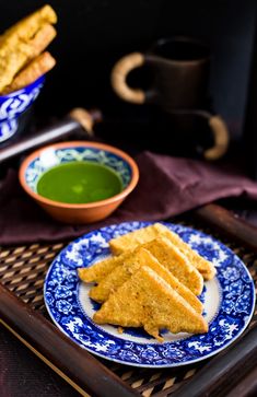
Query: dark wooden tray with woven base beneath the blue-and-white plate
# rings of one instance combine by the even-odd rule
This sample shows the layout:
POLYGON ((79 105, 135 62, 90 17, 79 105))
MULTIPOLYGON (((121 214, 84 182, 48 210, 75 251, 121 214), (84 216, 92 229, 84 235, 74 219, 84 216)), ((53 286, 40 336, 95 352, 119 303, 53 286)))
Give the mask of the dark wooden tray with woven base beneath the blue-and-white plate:
MULTIPOLYGON (((246 264, 257 283, 257 229, 215 205, 206 206, 189 217, 176 219, 176 222, 203 230, 230 246, 246 264)), ((249 387, 250 392, 257 387, 257 342, 253 345, 253 340, 257 338, 252 335, 257 331, 256 313, 252 320, 253 329, 248 329, 247 335, 243 335, 232 347, 213 359, 177 369, 126 366, 95 358, 81 349, 51 323, 43 299, 45 273, 54 257, 66 245, 67 243, 2 247, 0 323, 82 395, 224 396, 224 390, 230 393, 236 383, 236 387, 241 386, 245 392, 241 393, 244 396, 249 387), (246 346, 250 346, 250 349, 247 350, 246 346), (237 351, 233 355, 234 347, 237 347, 237 351), (235 369, 240 370, 241 375, 227 382, 235 369), (188 387, 191 390, 189 394, 188 387), (219 394, 221 390, 222 394, 219 394)))

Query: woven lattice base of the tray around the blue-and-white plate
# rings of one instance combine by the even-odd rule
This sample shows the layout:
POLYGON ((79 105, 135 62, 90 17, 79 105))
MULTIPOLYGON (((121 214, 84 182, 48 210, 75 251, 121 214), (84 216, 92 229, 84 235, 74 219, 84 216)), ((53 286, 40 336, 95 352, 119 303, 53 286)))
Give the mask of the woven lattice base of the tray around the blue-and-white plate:
MULTIPOLYGON (((206 213, 203 218, 206 218, 206 213)), ((194 223, 190 223, 189 220, 187 220, 186 224, 199 229, 199 224, 195 223, 195 220, 194 223)), ((205 231, 213 235, 213 230, 205 229, 205 231)), ((214 236, 218 238, 220 237, 220 235, 214 236)), ((244 246, 235 244, 234 241, 224 241, 223 238, 223 242, 243 259, 243 261, 247 265, 252 277, 257 282, 257 254, 246 249, 244 246)), ((11 292, 14 300, 17 297, 19 303, 25 303, 25 307, 27 308, 30 306, 30 311, 32 308, 30 314, 33 315, 36 313, 39 317, 44 316, 46 326, 51 329, 54 328, 55 334, 58 334, 59 331, 57 332, 57 328, 52 326, 46 312, 43 297, 43 283, 45 273, 51 264, 52 258, 66 244, 62 243, 54 245, 33 244, 27 246, 4 247, 0 250, 0 282, 11 292)), ((255 318, 256 314, 254 319, 255 318)), ((61 335, 60 338, 63 338, 63 335, 61 335)), ((125 395, 166 397, 170 394, 173 394, 177 388, 180 388, 180 386, 186 383, 188 378, 194 376, 199 369, 205 369, 205 365, 208 362, 207 360, 197 365, 182 366, 178 369, 149 370, 131 367, 112 362, 106 364, 105 360, 95 359, 80 348, 78 348, 78 350, 83 352, 84 355, 92 358, 94 365, 100 365, 100 369, 102 369, 103 372, 106 366, 110 369, 112 373, 108 373, 108 376, 113 381, 113 384, 117 386, 116 392, 120 385, 125 386, 124 388, 119 388, 120 397, 125 395)), ((68 376, 72 378, 72 373, 69 373, 68 376)), ((80 382, 77 382, 77 384, 79 384, 79 387, 96 394, 94 385, 89 385, 86 382, 84 385, 81 385, 80 382)), ((110 394, 103 392, 97 395, 104 396, 110 394)))

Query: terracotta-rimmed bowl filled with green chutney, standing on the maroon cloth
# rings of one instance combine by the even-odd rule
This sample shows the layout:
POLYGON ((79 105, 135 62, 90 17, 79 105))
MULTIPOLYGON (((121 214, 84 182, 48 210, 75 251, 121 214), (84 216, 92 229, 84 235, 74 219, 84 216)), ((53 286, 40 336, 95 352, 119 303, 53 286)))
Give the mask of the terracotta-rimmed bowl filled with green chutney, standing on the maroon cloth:
POLYGON ((108 217, 135 189, 135 161, 112 145, 74 141, 30 154, 20 167, 24 190, 52 218, 77 224, 108 217))

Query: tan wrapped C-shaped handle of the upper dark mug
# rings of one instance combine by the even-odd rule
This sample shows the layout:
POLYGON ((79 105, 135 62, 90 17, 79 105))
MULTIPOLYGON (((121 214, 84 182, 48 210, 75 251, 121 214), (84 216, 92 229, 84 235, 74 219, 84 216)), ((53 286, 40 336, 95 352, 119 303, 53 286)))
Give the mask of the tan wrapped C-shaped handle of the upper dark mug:
POLYGON ((113 68, 110 74, 110 83, 118 96, 124 101, 135 104, 143 104, 145 94, 140 89, 131 89, 128 86, 126 79, 128 73, 136 68, 140 68, 144 63, 144 57, 140 52, 133 52, 121 58, 113 68))

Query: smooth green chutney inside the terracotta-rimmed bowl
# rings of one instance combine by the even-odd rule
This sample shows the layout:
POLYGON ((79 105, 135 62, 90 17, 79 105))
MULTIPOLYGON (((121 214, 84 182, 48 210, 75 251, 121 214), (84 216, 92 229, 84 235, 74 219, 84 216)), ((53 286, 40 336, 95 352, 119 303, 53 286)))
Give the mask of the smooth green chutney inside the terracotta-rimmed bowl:
POLYGON ((121 190, 121 179, 112 168, 83 161, 57 165, 37 183, 40 196, 72 205, 104 200, 121 190))

